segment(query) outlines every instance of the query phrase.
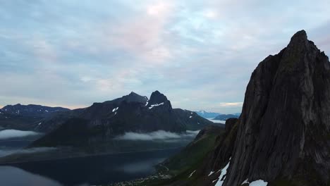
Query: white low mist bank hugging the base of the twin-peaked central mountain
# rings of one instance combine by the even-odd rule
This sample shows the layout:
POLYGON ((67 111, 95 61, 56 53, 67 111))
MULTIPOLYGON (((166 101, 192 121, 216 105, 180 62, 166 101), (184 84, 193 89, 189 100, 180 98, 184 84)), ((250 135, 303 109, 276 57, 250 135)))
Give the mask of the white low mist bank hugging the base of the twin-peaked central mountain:
POLYGON ((198 131, 187 130, 183 134, 178 134, 174 132, 167 132, 164 130, 157 130, 149 133, 139 133, 139 132, 125 132, 124 135, 120 135, 116 137, 116 140, 142 140, 142 141, 150 141, 150 140, 174 140, 180 139, 184 137, 195 137, 198 131))

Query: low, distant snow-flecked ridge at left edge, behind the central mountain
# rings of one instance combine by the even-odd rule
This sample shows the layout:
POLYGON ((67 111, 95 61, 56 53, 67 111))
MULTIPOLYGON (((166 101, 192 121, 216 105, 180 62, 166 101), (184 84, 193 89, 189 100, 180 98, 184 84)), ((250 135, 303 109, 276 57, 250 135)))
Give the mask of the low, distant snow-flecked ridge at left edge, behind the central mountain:
POLYGON ((0 128, 44 132, 38 130, 42 120, 68 111, 70 109, 33 104, 7 105, 0 109, 0 128))

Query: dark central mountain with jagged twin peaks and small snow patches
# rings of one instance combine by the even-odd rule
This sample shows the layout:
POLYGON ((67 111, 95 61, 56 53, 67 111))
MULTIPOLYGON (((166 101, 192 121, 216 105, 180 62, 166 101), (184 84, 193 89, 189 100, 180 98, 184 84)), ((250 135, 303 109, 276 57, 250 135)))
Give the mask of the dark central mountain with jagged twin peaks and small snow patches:
MULTIPOLYGON (((73 110, 71 116, 58 117, 57 121, 59 127, 35 141, 32 147, 91 146, 125 132, 182 133, 214 124, 192 111, 172 109, 171 101, 158 91, 152 92, 150 99, 131 92, 119 99, 73 110)), ((42 125, 49 123, 45 120, 42 125)))

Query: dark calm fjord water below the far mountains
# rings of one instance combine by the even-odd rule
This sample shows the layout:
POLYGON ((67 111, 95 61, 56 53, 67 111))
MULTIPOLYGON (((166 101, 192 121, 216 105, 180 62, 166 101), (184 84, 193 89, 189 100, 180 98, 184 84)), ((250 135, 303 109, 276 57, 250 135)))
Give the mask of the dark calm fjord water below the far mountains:
POLYGON ((162 149, 79 158, 30 161, 0 166, 0 185, 102 185, 143 178, 180 151, 162 149))

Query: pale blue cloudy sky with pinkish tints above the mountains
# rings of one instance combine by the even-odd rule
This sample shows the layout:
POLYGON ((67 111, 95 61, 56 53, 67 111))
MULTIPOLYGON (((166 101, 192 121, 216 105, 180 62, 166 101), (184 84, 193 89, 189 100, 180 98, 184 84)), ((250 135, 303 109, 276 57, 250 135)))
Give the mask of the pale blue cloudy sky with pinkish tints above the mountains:
POLYGON ((238 113, 252 71, 298 30, 330 54, 330 1, 0 0, 0 107, 70 109, 159 90, 238 113))

